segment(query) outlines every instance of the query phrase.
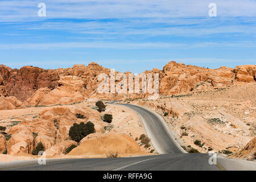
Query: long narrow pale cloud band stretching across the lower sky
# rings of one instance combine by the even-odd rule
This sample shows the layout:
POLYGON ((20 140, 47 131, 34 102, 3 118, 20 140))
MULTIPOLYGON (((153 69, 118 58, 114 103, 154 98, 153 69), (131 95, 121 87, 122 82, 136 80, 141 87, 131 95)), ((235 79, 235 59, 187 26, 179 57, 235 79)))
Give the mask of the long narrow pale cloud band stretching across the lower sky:
POLYGON ((164 48, 254 48, 256 42, 199 42, 199 43, 125 43, 125 42, 65 42, 65 43, 21 43, 21 44, 0 44, 0 49, 70 49, 70 48, 104 48, 104 49, 164 49, 164 48))

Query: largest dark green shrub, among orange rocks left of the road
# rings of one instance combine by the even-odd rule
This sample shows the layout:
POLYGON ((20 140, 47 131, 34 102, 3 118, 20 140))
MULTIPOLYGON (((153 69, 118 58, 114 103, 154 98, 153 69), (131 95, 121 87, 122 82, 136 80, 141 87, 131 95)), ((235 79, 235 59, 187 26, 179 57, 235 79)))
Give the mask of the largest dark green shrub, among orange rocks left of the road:
POLYGON ((80 124, 73 124, 73 126, 69 129, 69 137, 76 142, 80 142, 80 140, 90 133, 95 133, 94 124, 92 122, 81 122, 80 124))

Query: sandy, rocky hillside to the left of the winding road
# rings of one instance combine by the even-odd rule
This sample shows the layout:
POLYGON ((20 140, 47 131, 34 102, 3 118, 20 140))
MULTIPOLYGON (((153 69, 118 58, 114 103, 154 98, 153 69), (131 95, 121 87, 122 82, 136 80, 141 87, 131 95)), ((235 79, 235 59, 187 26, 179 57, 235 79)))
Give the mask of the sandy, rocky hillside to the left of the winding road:
POLYGON ((110 152, 118 152, 119 156, 134 156, 150 154, 150 151, 154 150, 152 146, 145 148, 137 140, 146 131, 136 113, 126 107, 109 104, 106 104, 104 112, 99 113, 96 110, 96 101, 91 99, 71 105, 31 106, 24 109, 0 110, 0 126, 7 128, 5 130, 7 135, 11 134, 9 140, 5 139, 9 155, 1 154, 0 161, 35 158, 31 155, 31 150, 39 142, 44 144, 48 158, 105 158, 110 152), (84 114, 86 118, 77 119, 75 113, 84 114), (112 123, 102 121, 101 117, 104 114, 113 115, 112 123), (79 154, 72 151, 72 156, 64 155, 67 147, 77 144, 69 139, 69 127, 74 122, 86 123, 88 121, 94 123, 96 133, 89 134, 81 140, 80 146, 77 147, 80 151, 79 154), (33 136, 35 133, 36 136, 33 136), (113 146, 107 143, 113 143, 113 146), (83 152, 79 148, 83 148, 84 145, 85 148, 89 145, 96 149, 83 152))

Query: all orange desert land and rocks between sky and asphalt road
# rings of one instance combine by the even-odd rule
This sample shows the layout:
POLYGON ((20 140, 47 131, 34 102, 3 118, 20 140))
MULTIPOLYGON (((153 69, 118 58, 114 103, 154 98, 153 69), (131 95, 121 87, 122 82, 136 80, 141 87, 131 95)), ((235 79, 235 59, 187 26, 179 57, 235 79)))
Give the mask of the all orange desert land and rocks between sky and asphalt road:
POLYGON ((147 93, 97 93, 101 73, 109 75, 110 69, 94 62, 55 70, 0 65, 0 162, 38 158, 32 153, 39 144, 47 158, 156 154, 138 115, 108 104, 114 100, 162 115, 188 152, 255 159, 256 65, 208 69, 171 61, 163 70, 144 72, 159 74, 156 100, 148 100, 147 93), (98 111, 98 101, 106 105, 104 111, 98 111), (75 123, 93 123, 95 131, 72 140, 75 123))

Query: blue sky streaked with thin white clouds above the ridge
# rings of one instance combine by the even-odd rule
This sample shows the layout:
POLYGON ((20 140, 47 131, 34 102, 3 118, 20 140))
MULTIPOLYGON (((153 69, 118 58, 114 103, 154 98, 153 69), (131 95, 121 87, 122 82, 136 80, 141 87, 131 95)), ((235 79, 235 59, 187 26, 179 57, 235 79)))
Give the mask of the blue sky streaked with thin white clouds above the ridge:
POLYGON ((256 0, 0 0, 0 64, 141 73, 256 63, 256 0), (39 16, 39 3, 46 16, 39 16), (217 16, 209 16, 215 3, 217 16))

